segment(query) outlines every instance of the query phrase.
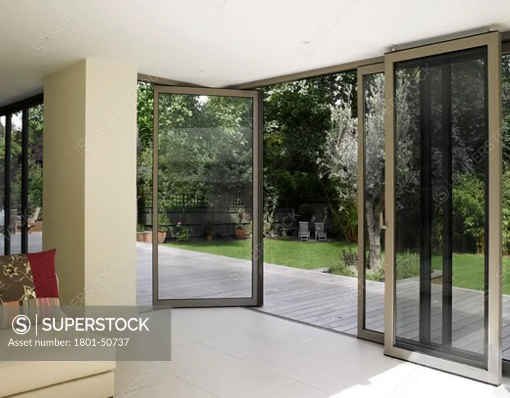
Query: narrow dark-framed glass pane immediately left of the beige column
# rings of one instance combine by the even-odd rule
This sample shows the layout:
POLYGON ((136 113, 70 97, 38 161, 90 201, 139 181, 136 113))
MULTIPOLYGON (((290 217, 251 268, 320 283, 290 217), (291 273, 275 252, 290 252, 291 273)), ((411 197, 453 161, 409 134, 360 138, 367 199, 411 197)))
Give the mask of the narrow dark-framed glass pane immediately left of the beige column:
POLYGON ((28 251, 42 251, 42 131, 43 108, 29 108, 28 251))

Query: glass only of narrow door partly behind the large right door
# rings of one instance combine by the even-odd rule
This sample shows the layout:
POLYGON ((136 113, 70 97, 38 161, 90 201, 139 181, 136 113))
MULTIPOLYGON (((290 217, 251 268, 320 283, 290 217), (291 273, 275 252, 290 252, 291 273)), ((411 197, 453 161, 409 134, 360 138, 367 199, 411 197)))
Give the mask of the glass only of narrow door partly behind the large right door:
POLYGON ((384 332, 384 73, 365 76, 365 329, 384 332))

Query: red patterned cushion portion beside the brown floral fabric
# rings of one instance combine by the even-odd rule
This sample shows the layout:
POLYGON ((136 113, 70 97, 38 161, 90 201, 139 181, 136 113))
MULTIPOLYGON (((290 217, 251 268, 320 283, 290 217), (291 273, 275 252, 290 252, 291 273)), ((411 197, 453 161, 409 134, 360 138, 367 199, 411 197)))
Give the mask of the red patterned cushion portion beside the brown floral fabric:
POLYGON ((32 268, 37 298, 59 297, 55 277, 55 252, 56 249, 26 254, 32 268))

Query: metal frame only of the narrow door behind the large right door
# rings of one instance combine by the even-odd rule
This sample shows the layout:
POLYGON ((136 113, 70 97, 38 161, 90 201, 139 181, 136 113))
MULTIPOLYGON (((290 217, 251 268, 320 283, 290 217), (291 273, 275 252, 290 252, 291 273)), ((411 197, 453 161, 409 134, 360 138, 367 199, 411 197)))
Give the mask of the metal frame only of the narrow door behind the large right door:
MULTIPOLYGON (((365 76, 384 73, 384 63, 358 68, 358 332, 357 336, 375 343, 384 343, 384 333, 365 328, 365 76)), ((385 82, 386 85, 386 82, 385 82)), ((386 86, 385 86, 386 87, 386 86)), ((386 105, 386 104, 385 104, 386 105)), ((384 193, 383 193, 384 194, 384 193)))

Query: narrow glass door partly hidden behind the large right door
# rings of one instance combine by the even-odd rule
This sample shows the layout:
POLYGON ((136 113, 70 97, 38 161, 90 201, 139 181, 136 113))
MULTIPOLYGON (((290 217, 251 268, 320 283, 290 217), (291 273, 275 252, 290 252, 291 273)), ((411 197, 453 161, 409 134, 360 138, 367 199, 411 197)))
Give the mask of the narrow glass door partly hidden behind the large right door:
POLYGON ((358 68, 358 337, 384 340, 384 64, 358 68))

